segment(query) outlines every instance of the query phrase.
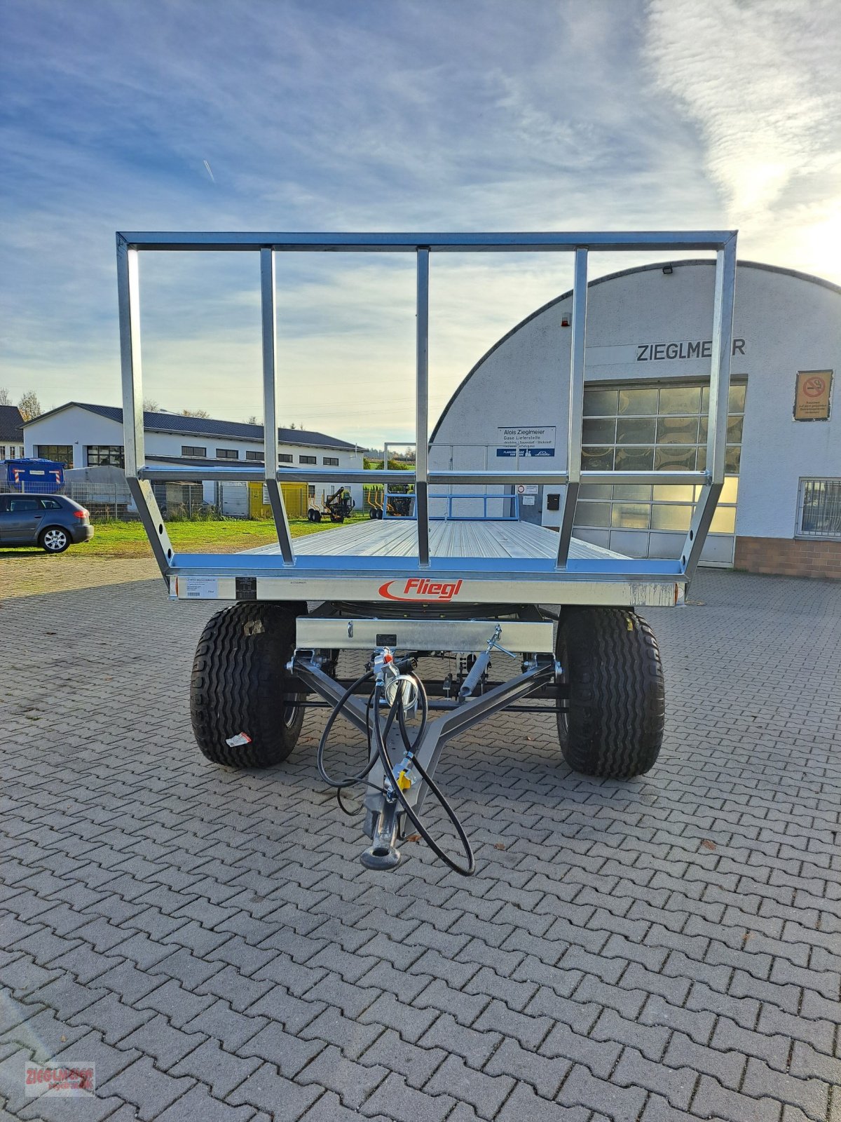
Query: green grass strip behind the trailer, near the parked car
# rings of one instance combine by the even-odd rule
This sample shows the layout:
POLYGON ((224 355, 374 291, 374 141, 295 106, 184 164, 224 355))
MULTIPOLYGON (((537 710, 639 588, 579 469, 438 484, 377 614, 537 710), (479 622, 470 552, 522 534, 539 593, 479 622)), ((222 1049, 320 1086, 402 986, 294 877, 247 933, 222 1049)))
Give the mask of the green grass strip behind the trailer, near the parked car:
MULTIPOLYGON (((363 515, 352 515, 344 524, 362 521, 367 521, 363 515)), ((306 518, 293 518, 289 522, 293 537, 338 528, 339 525, 332 522, 307 522, 306 518)), ((274 522, 251 522, 244 518, 170 522, 167 530, 173 546, 183 553, 237 553, 239 550, 250 550, 277 541, 274 522)), ((94 523, 93 539, 84 545, 75 546, 75 550, 84 552, 86 557, 151 557, 146 532, 139 522, 94 523)))

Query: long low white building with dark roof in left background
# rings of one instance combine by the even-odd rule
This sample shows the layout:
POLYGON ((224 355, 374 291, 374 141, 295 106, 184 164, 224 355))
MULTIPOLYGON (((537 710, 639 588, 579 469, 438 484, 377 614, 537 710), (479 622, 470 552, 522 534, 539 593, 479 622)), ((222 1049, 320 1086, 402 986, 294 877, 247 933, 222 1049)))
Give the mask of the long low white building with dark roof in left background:
MULTIPOLYGON (((186 417, 177 413, 145 413, 146 458, 153 463, 183 460, 191 466, 257 467, 264 461, 262 425, 186 417)), ((346 440, 304 429, 279 429, 278 466, 329 467, 362 470, 362 450, 346 440)), ((68 402, 27 422, 24 429, 27 456, 58 460, 70 468, 123 467, 122 410, 113 405, 68 402)), ((214 502, 214 485, 205 484, 205 499, 214 502)), ((323 485, 311 485, 321 494, 323 485)), ((362 487, 350 486, 362 508, 362 487)), ((248 509, 243 499, 242 513, 248 509)))

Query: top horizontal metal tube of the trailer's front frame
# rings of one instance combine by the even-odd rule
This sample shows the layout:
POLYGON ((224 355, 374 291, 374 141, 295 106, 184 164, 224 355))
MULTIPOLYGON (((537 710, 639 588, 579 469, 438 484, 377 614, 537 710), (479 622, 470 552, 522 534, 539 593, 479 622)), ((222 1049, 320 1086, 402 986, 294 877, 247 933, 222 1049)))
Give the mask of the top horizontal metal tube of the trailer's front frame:
POLYGON ((118 238, 132 249, 150 250, 233 250, 275 249, 330 252, 410 252, 422 247, 440 252, 517 252, 523 249, 720 249, 733 237, 733 230, 650 230, 579 231, 573 233, 278 233, 257 232, 136 232, 122 231, 118 238))

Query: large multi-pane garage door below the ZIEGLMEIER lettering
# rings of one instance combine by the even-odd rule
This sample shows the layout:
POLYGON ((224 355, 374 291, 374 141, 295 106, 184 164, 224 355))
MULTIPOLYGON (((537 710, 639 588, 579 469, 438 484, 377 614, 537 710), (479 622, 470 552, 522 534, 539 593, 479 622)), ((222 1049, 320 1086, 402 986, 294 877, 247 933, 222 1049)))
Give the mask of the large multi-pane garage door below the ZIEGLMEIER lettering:
MULTIPOLYGON (((732 564, 746 384, 730 386, 727 478, 702 560, 732 564)), ((599 471, 702 471, 706 466, 709 384, 631 383, 584 392, 582 468, 599 471)), ((582 486, 577 537, 629 557, 678 557, 700 487, 582 486)))

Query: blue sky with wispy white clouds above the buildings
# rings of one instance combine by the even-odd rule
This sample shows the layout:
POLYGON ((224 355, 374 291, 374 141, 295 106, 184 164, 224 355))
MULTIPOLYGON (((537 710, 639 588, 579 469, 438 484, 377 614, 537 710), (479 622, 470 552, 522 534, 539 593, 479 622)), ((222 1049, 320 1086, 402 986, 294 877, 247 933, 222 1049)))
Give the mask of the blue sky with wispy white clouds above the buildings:
MULTIPOLYGON (((115 230, 739 229, 841 283, 839 58, 837 0, 0 0, 0 387, 119 404, 115 230)), ((147 396, 260 417, 257 256, 140 268, 147 396)), ((412 438, 414 283, 284 256, 281 423, 412 438)), ((431 423, 569 287, 434 257, 431 423)))

